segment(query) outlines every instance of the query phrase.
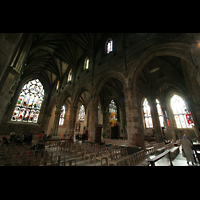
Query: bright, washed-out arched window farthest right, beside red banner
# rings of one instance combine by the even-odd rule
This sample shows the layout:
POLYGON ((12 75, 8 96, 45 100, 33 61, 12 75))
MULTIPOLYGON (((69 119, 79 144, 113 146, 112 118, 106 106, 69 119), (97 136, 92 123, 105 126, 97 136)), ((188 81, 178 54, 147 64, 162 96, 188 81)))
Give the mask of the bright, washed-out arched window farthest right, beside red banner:
POLYGON ((187 123, 186 114, 187 107, 184 100, 178 96, 174 95, 171 98, 171 107, 174 114, 174 119, 177 128, 192 128, 192 125, 187 123))

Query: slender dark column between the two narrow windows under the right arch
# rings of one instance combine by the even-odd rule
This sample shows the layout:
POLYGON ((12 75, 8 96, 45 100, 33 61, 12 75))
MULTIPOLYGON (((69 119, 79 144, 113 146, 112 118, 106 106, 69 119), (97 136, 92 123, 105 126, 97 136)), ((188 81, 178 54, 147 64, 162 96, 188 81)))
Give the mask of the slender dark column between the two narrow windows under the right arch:
POLYGON ((155 134, 156 134, 156 142, 157 143, 163 142, 164 138, 163 138, 163 134, 162 134, 161 127, 160 127, 158 110, 157 110, 157 107, 156 107, 156 98, 149 97, 148 103, 149 103, 149 106, 150 106, 150 109, 151 109, 153 129, 154 129, 155 134))

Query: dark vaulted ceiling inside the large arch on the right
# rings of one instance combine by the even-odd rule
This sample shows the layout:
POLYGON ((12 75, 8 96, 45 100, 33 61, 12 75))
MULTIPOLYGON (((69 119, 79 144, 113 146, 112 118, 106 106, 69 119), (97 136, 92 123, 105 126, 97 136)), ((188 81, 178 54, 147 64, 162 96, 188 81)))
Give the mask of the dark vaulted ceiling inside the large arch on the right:
POLYGON ((184 91, 187 86, 180 58, 159 56, 152 59, 142 70, 137 88, 144 96, 164 95, 171 90, 184 91))

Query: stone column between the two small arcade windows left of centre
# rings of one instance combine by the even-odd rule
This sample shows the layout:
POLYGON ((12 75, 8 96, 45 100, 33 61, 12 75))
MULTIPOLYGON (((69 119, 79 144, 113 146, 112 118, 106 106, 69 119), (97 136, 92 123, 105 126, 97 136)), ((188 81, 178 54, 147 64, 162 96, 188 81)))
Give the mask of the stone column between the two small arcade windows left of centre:
POLYGON ((68 137, 72 136, 72 138, 74 138, 77 106, 70 106, 69 112, 70 112, 70 114, 69 114, 69 120, 68 120, 67 135, 68 135, 68 137))

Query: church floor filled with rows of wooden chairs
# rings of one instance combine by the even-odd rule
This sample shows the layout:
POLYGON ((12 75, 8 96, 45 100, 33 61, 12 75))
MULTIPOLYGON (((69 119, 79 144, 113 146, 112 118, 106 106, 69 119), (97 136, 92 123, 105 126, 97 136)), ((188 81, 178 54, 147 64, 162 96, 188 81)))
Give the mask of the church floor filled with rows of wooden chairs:
MULTIPOLYGON (((29 147, 30 148, 30 147, 29 147)), ((181 146, 178 155, 172 160, 173 166, 199 166, 197 163, 188 165, 182 156, 181 146)), ((166 146, 167 149, 167 146, 166 146)), ((158 150, 158 149, 157 149, 158 150)), ((167 150, 166 150, 167 151, 167 150)), ((165 151, 165 152, 166 152, 165 151)), ((138 149, 134 153, 119 146, 106 146, 91 143, 47 141, 43 150, 29 150, 18 146, 0 149, 1 166, 150 166, 149 159, 154 159, 163 153, 155 155, 138 149)), ((155 162, 155 166, 170 166, 168 156, 163 156, 155 162)))

